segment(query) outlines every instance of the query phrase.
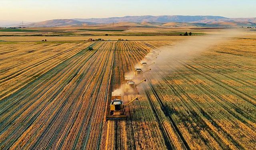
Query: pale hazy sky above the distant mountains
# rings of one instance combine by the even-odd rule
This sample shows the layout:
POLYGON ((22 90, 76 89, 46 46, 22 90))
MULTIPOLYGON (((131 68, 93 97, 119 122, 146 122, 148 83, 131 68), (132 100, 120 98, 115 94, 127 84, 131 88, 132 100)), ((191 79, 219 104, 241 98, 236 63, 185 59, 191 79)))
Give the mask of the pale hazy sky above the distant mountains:
POLYGON ((141 15, 256 17, 256 0, 0 0, 0 20, 34 22, 141 15))

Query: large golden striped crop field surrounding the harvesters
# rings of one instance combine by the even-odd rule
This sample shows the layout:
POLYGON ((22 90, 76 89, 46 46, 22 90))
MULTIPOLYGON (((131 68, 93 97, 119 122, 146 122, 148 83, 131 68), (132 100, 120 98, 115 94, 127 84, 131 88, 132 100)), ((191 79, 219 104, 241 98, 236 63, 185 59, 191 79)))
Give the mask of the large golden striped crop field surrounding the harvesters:
POLYGON ((0 149, 255 149, 254 39, 156 61, 128 120, 106 121, 125 74, 176 42, 1 44, 0 149))

